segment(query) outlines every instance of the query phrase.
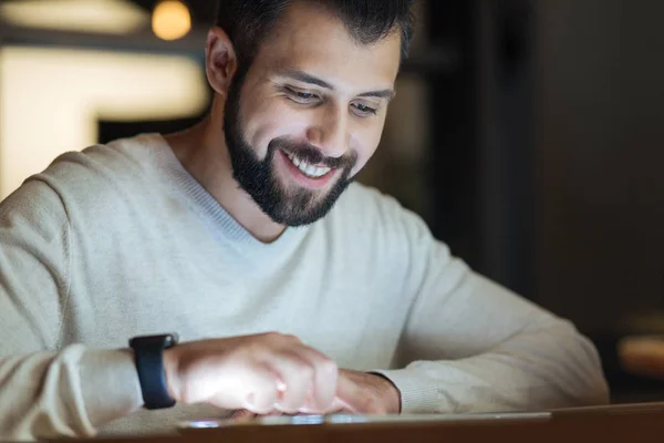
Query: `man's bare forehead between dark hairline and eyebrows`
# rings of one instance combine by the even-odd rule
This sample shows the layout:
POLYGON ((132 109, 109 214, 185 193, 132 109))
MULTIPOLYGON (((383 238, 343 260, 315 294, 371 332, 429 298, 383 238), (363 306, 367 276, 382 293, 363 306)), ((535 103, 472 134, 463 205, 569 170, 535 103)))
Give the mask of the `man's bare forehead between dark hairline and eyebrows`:
POLYGON ((300 70, 340 89, 393 85, 398 73, 398 31, 370 45, 359 43, 344 24, 315 2, 294 2, 264 40, 255 68, 264 74, 300 70))

